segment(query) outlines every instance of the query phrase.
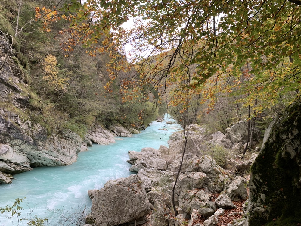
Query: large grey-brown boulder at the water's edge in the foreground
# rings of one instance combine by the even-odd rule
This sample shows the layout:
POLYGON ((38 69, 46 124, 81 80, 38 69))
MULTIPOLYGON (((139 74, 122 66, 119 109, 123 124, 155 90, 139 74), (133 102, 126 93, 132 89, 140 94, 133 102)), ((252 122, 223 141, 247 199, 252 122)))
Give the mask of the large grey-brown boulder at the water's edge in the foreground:
MULTIPOLYGON (((93 193, 91 215, 98 226, 124 224, 151 211, 144 184, 138 175, 109 180, 93 193)), ((88 222, 87 222, 88 223, 88 222)))

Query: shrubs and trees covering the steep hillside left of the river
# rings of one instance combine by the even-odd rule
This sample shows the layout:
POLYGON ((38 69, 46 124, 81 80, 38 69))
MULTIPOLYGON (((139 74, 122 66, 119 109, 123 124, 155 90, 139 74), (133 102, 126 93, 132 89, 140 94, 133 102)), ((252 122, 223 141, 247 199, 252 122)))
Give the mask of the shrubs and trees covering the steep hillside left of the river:
MULTIPOLYGON (((113 60, 109 53, 91 56, 78 44, 66 55, 62 48, 70 37, 60 31, 70 25, 68 20, 49 24, 49 30, 43 28, 41 20, 35 20, 36 7, 59 8, 63 4, 64 1, 1 1, 0 31, 15 49, 2 57, 15 57, 28 85, 23 95, 30 98, 30 109, 22 114, 10 101, 4 101, 3 107, 14 108, 24 120, 42 124, 48 134, 71 130, 84 136, 92 125, 107 127, 116 122, 139 129, 158 117, 159 111, 151 102, 124 103, 118 81, 110 92, 104 89, 109 80, 108 65, 113 60)), ((104 37, 100 36, 96 45, 102 47, 102 41, 104 37)))

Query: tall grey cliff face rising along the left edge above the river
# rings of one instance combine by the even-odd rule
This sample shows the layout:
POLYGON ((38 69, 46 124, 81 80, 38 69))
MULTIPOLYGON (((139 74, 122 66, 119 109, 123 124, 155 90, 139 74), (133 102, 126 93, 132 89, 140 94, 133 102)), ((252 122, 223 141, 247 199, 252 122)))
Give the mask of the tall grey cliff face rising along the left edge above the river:
POLYGON ((71 132, 47 135, 45 127, 28 117, 28 85, 0 33, 0 183, 11 183, 11 174, 36 166, 69 165, 76 161, 82 138, 71 132), (8 54, 8 56, 7 56, 8 54), (6 59, 7 57, 7 59, 6 59), (5 63, 3 63, 5 61, 5 63))

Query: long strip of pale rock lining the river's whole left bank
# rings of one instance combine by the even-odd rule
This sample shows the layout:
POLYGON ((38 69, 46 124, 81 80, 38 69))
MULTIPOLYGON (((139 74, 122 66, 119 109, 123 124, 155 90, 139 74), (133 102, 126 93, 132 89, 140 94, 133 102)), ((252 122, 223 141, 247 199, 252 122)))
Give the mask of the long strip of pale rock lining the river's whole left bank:
POLYGON ((0 184, 10 184, 14 174, 38 166, 70 165, 77 154, 95 144, 114 143, 115 136, 130 137, 138 130, 127 130, 119 124, 110 130, 93 127, 82 139, 76 133, 51 134, 45 127, 32 122, 22 122, 18 116, 4 118, 0 115, 0 184))

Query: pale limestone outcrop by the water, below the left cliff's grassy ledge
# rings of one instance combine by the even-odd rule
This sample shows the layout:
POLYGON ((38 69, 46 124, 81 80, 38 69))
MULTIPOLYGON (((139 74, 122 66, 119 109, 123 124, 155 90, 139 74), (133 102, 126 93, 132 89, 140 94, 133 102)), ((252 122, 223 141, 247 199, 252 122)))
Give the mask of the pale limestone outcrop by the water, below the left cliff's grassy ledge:
MULTIPOLYGON (((21 171, 30 170, 30 166, 62 166, 75 162, 82 143, 79 135, 66 132, 47 137, 44 130, 40 125, 22 121, 16 115, 3 118, 0 109, 0 139, 5 141, 0 145, 0 159, 8 165, 11 163, 12 168, 12 165, 22 166, 21 171)), ((15 173, 21 171, 16 170, 15 173)))

